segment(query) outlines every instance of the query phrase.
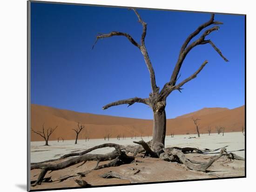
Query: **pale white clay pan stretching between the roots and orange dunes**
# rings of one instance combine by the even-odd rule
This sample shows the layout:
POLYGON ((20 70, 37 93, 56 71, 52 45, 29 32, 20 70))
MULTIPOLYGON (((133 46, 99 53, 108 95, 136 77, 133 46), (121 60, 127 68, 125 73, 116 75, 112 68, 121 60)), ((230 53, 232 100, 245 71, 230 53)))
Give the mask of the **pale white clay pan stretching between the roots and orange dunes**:
MULTIPOLYGON (((150 141, 152 137, 142 137, 144 141, 150 141)), ((40 162, 43 160, 57 159, 63 154, 68 154, 71 152, 79 152, 102 143, 110 142, 117 143, 120 145, 134 145, 133 141, 140 141, 141 138, 136 139, 122 138, 118 141, 115 138, 110 138, 109 141, 104 141, 104 139, 90 139, 89 141, 78 140, 78 144, 74 145, 74 140, 67 141, 49 141, 50 146, 43 146, 44 141, 33 141, 31 142, 31 162, 40 162)), ((245 148, 244 136, 241 132, 224 133, 222 134, 201 134, 200 138, 194 134, 185 135, 175 135, 173 138, 171 136, 166 136, 165 147, 198 147, 198 148, 209 148, 216 149, 221 147, 226 147, 228 152, 233 152, 239 156, 244 157, 245 148), (196 137, 191 138, 189 137, 196 137), (241 150, 241 151, 239 151, 241 150)), ((113 151, 113 148, 107 147, 102 149, 97 149, 91 153, 94 154, 105 154, 113 151)), ((216 151, 219 152, 219 151, 216 151)))

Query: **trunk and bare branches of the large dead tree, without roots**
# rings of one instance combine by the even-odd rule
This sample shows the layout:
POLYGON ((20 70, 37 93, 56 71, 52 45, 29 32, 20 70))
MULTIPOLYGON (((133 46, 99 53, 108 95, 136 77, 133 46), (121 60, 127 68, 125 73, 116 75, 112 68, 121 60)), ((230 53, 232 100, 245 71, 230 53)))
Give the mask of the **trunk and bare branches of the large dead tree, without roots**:
POLYGON ((179 75, 180 69, 182 67, 183 61, 186 58, 186 56, 189 54, 189 52, 195 48, 198 45, 211 45, 215 51, 224 59, 224 61, 228 61, 223 55, 222 52, 216 47, 216 45, 210 40, 206 39, 206 37, 217 30, 219 30, 219 26, 212 26, 212 25, 221 25, 222 22, 215 21, 214 20, 214 14, 211 14, 211 17, 209 21, 203 23, 201 26, 199 26, 194 32, 192 32, 188 38, 186 38, 185 42, 183 43, 181 50, 179 52, 178 59, 176 61, 174 70, 171 74, 171 77, 167 83, 163 86, 162 90, 156 85, 155 81, 155 71, 153 69, 153 66, 151 64, 151 61, 148 56, 148 51, 146 49, 145 45, 145 37, 147 34, 147 23, 145 23, 142 19, 139 13, 133 8, 132 9, 137 18, 139 23, 142 25, 142 34, 141 34, 141 42, 138 43, 131 35, 125 32, 117 32, 113 31, 107 34, 98 34, 96 37, 96 41, 93 45, 93 48, 97 41, 99 39, 103 38, 110 38, 113 36, 123 36, 127 38, 132 45, 135 45, 136 48, 141 51, 142 56, 145 60, 145 63, 147 65, 149 76, 150 76, 150 85, 152 92, 149 93, 148 98, 139 98, 139 97, 133 97, 129 99, 124 99, 116 102, 109 103, 102 107, 102 109, 108 109, 113 106, 122 105, 122 104, 128 104, 128 106, 133 105, 136 102, 143 103, 148 105, 152 111, 153 111, 153 148, 159 148, 159 145, 164 145, 165 141, 165 134, 166 134, 166 114, 165 114, 165 106, 166 106, 166 98, 171 94, 172 91, 178 90, 181 92, 182 86, 185 83, 188 83, 190 80, 194 79, 200 71, 208 64, 208 61, 205 60, 202 65, 196 70, 190 77, 185 78, 180 83, 177 83, 178 78, 181 76, 179 75), (208 29, 207 27, 212 26, 208 29), (202 35, 199 38, 195 38, 202 30, 206 29, 204 32, 202 32, 202 35), (192 40, 193 39, 193 40, 192 40), (195 40, 194 40, 195 39, 195 40), (192 41, 192 42, 191 42, 192 41))

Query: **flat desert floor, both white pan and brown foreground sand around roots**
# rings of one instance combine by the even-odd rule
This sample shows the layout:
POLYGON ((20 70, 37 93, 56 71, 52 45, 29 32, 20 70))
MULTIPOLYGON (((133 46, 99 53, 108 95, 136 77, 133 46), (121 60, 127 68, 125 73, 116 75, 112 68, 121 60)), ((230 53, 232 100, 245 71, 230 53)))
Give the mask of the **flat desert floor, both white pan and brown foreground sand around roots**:
MULTIPOLYGON (((226 147, 227 152, 232 152, 239 156, 245 156, 245 137, 241 132, 234 133, 224 133, 222 134, 202 134, 200 138, 191 138, 196 135, 175 135, 174 138, 170 136, 166 137, 165 147, 198 147, 217 149, 221 147, 226 147)), ((151 137, 142 137, 144 141, 149 141, 151 137)), ((58 158, 63 154, 68 154, 71 152, 82 151, 96 145, 111 142, 121 145, 131 145, 134 144, 132 141, 140 141, 141 138, 111 138, 109 141, 104 141, 104 139, 92 139, 89 141, 78 140, 78 144, 74 145, 73 140, 68 141, 49 141, 51 146, 43 146, 43 141, 31 142, 31 162, 39 162, 43 160, 49 160, 58 158)), ((112 148, 97 149, 91 153, 94 154, 105 154, 113 151, 112 148)), ((219 151, 212 152, 209 154, 186 154, 186 156, 193 160, 209 161, 209 159, 218 154, 219 151)), ((137 157, 136 160, 143 161, 142 163, 127 164, 117 167, 108 167, 100 170, 95 170, 88 173, 83 179, 86 180, 92 186, 100 185, 115 185, 115 184, 128 184, 128 183, 143 183, 143 182, 157 182, 157 181, 172 181, 172 180, 187 180, 187 179, 206 179, 206 178, 219 178, 219 177, 239 177, 245 175, 245 162, 243 160, 229 160, 224 157, 220 158, 209 167, 209 173, 202 173, 191 171, 187 169, 182 164, 170 163, 161 159, 155 158, 141 158, 137 157), (137 170, 138 173, 134 174, 137 170), (128 179, 102 179, 99 175, 107 173, 108 171, 113 171, 123 175, 128 179)), ((105 164, 101 162, 101 164, 105 164)), ((66 169, 54 171, 52 173, 47 173, 45 177, 51 177, 51 179, 58 180, 64 176, 75 175, 78 172, 83 172, 90 170, 95 167, 95 161, 89 161, 82 166, 78 165, 70 166, 66 169)), ((31 171, 31 180, 36 180, 40 170, 31 171)), ((61 188, 61 187, 79 187, 75 178, 66 179, 63 182, 55 181, 51 183, 42 183, 39 186, 31 187, 31 189, 46 189, 46 188, 61 188)))

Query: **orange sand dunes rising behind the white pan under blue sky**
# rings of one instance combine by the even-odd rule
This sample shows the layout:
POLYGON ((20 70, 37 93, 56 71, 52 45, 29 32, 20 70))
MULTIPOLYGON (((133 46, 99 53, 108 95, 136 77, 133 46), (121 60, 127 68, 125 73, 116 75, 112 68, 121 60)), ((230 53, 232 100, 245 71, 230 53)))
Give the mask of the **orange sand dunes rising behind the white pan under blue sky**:
MULTIPOLYGON (((241 131, 245 121, 245 108, 244 106, 235 109, 204 108, 175 119, 168 119, 167 134, 195 134, 192 116, 201 119, 199 127, 200 132, 204 134, 207 133, 208 126, 211 126, 213 133, 216 132, 216 126, 225 127, 225 132, 241 131)), ((63 137, 65 140, 75 139, 75 132, 72 129, 77 128, 77 122, 85 126, 79 134, 79 139, 103 138, 107 134, 111 134, 111 137, 116 137, 118 134, 121 134, 121 137, 152 135, 152 120, 94 115, 37 104, 31 105, 31 127, 34 130, 41 130, 43 123, 45 123, 45 129, 58 126, 50 140, 57 140, 58 137, 63 137)), ((31 141, 43 141, 43 138, 31 133, 31 141)))

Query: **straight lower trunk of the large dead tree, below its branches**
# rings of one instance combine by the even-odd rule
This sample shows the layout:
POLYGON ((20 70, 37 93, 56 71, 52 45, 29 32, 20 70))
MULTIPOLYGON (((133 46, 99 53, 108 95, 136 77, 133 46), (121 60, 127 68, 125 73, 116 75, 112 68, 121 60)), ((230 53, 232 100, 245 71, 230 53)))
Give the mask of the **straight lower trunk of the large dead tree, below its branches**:
POLYGON ((166 133, 166 114, 165 109, 162 111, 154 112, 154 122, 153 122, 153 141, 152 146, 157 143, 162 143, 164 145, 166 133))

